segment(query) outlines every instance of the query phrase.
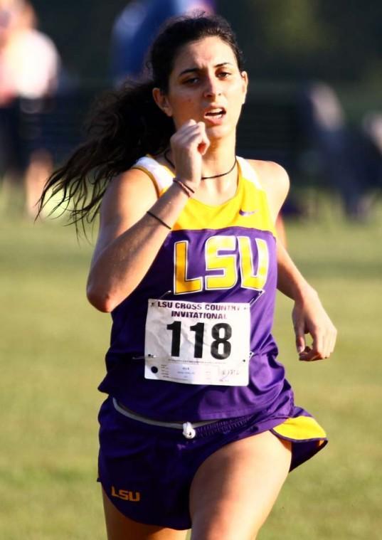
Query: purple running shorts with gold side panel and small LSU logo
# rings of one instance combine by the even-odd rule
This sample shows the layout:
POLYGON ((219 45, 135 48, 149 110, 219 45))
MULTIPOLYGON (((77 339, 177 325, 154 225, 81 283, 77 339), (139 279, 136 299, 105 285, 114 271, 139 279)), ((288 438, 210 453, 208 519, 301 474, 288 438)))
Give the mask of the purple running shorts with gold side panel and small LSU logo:
POLYGON ((100 409, 99 477, 107 497, 134 521, 190 529, 189 490, 201 463, 228 443, 271 430, 292 441, 294 469, 327 443, 324 430, 302 408, 274 404, 261 413, 182 430, 147 425, 117 411, 109 396, 100 409))

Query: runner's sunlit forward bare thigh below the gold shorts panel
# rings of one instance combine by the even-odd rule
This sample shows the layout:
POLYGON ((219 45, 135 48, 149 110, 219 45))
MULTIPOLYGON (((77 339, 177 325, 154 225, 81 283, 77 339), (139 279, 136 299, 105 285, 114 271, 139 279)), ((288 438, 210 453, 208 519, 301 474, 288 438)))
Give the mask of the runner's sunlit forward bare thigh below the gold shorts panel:
POLYGON ((290 460, 290 443, 270 431, 209 456, 191 485, 191 538, 255 538, 287 477, 290 460))

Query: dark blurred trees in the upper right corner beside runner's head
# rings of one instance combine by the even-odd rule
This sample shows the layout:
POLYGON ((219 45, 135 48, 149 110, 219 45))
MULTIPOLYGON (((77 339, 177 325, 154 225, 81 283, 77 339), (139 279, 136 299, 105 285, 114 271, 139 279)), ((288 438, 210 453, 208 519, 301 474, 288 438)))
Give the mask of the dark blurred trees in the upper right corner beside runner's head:
POLYGON ((381 0, 367 8, 364 0, 220 0, 218 7, 254 78, 366 83, 381 73, 381 0))

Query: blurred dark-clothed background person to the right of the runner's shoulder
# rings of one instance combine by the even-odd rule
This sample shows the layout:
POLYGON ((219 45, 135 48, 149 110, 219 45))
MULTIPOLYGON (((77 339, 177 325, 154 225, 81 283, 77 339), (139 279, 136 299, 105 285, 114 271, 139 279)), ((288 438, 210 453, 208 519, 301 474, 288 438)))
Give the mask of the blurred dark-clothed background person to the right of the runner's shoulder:
MULTIPOLYGON (((334 189, 346 217, 363 220, 370 209, 368 193, 380 186, 378 132, 382 116, 368 115, 364 129, 349 127, 336 92, 327 83, 307 85, 299 94, 300 127, 315 181, 334 189)), ((309 171, 307 171, 309 174, 309 171)))

